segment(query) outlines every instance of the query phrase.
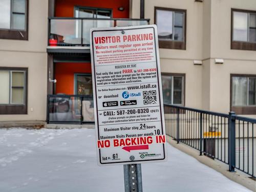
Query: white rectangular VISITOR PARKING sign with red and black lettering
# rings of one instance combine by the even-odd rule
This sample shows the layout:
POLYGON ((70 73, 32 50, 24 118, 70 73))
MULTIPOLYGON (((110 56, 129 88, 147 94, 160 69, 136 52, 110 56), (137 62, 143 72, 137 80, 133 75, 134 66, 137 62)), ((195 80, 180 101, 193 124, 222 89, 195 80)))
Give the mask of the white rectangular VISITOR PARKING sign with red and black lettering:
POLYGON ((90 33, 98 164, 166 160, 156 25, 90 33))

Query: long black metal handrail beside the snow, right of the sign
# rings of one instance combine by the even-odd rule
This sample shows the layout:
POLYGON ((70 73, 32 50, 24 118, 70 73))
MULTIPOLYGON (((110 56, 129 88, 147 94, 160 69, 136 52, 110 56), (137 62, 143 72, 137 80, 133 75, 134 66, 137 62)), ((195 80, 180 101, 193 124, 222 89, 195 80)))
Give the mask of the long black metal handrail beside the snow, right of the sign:
POLYGON ((164 105, 166 135, 255 178, 256 119, 177 105, 164 105))

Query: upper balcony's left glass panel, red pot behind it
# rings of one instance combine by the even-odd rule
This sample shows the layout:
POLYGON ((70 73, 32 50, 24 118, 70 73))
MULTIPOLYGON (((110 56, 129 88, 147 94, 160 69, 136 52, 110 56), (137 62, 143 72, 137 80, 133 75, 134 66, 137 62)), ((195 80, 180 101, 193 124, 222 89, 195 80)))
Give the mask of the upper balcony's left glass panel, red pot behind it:
POLYGON ((51 19, 50 39, 61 46, 81 44, 81 20, 51 19))

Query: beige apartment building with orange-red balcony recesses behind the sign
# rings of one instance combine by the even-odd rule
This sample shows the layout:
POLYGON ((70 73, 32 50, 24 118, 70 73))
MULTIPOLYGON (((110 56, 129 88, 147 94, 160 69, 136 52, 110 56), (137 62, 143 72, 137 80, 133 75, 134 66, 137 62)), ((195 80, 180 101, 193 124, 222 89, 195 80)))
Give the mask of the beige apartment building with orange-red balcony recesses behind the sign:
POLYGON ((0 121, 93 121, 90 28, 147 24, 165 104, 256 115, 254 0, 2 0, 0 121))

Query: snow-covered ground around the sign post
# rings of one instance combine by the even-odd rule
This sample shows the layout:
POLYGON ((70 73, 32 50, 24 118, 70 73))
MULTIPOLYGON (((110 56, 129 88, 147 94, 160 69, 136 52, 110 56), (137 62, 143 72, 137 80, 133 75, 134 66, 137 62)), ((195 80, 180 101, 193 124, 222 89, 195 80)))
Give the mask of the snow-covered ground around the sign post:
MULTIPOLYGON (((249 191, 167 144, 168 161, 142 164, 144 192, 249 191)), ((0 191, 119 192, 123 166, 97 165, 95 130, 0 129, 0 191)))

